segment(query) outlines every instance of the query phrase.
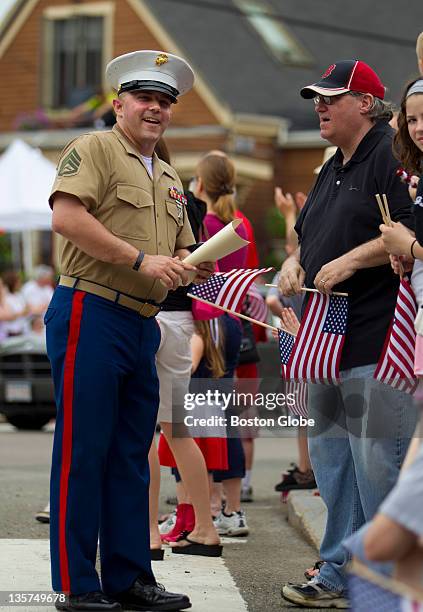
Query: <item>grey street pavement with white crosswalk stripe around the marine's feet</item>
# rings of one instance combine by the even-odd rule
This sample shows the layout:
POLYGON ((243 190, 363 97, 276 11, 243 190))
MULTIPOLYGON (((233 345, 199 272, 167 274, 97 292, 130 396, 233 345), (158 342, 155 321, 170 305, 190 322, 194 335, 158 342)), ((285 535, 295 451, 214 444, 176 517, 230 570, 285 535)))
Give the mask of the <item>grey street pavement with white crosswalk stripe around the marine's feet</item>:
MULTIPOLYGON (((48 526, 35 521, 34 514, 47 501, 51 446, 52 426, 43 432, 18 432, 0 423, 0 591, 50 588, 48 526)), ((155 563, 159 580, 191 596, 193 612, 293 609, 281 605, 280 586, 301 580, 316 559, 315 551, 288 525, 286 507, 273 492, 281 468, 295 458, 295 438, 257 440, 256 501, 244 506, 251 532, 247 539, 226 543, 223 560, 175 560, 169 554, 164 563, 155 563)), ((162 511, 168 510, 164 500, 172 492, 168 470, 163 470, 162 511)), ((10 608, 16 609, 22 608, 10 608)))

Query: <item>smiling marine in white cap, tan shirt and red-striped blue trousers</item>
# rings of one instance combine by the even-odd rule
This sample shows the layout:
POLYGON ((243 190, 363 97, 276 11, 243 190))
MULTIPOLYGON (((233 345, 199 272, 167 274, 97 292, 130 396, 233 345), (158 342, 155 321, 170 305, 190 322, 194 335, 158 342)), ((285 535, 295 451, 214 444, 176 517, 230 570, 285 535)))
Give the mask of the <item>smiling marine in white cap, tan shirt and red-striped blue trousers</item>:
MULTIPOLYGON (((150 562, 148 450, 159 403, 155 319, 192 266, 182 184, 153 153, 194 76, 136 51, 106 69, 117 124, 63 151, 50 196, 61 239, 46 313, 57 420, 51 472, 53 589, 60 610, 180 610, 150 562), (101 582, 95 569, 100 541, 101 582)), ((204 280, 212 266, 197 269, 204 280)))

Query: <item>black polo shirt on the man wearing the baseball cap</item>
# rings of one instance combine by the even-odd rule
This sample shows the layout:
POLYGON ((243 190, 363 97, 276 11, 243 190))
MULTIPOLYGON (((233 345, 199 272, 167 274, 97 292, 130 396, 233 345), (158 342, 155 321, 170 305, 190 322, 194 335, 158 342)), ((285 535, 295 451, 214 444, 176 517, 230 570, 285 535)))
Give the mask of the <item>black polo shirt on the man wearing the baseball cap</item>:
MULTIPOLYGON (((407 186, 396 176, 393 130, 377 122, 342 165, 340 149, 322 168, 295 229, 301 244, 305 285, 321 267, 380 236, 382 222, 375 194, 385 193, 394 221, 412 226, 407 186)), ((398 277, 390 265, 358 270, 334 290, 349 294, 347 332, 340 368, 376 363, 392 319, 398 277)))

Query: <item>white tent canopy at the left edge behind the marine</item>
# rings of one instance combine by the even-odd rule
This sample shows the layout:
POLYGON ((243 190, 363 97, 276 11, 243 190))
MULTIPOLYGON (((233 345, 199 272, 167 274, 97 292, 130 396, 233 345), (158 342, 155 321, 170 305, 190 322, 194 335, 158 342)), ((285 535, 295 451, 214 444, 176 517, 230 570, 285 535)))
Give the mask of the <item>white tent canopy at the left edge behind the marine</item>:
POLYGON ((22 140, 0 157, 0 229, 6 232, 51 229, 48 197, 55 167, 22 140))

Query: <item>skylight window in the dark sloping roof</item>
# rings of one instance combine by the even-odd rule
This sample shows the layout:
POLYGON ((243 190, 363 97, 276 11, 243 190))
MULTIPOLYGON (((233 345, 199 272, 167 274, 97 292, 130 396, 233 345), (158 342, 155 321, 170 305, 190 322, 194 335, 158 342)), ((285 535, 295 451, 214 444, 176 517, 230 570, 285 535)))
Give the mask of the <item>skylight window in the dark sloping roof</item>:
POLYGON ((282 25, 281 20, 271 16, 271 9, 259 0, 233 0, 246 19, 259 34, 267 49, 283 64, 310 66, 311 55, 282 25), (270 15, 266 15, 269 12, 270 15))

